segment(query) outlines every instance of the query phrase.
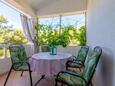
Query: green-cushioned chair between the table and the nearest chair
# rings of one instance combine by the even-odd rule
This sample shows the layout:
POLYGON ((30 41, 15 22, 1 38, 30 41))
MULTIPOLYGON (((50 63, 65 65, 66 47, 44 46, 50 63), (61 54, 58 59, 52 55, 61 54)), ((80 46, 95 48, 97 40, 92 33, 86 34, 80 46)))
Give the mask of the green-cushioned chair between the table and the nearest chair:
POLYGON ((77 57, 72 56, 74 59, 68 60, 66 62, 66 69, 68 70, 69 68, 79 68, 79 70, 81 71, 81 68, 84 67, 84 62, 86 60, 88 51, 89 46, 81 46, 77 57))

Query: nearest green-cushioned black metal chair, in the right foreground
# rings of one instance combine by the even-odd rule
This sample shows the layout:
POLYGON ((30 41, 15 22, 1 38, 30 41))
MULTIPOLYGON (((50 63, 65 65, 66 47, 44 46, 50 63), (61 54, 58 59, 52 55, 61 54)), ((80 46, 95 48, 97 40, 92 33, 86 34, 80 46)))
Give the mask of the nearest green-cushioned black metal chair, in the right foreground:
POLYGON ((99 46, 94 48, 92 55, 88 57, 85 63, 83 72, 71 70, 59 72, 55 79, 55 86, 58 86, 59 83, 61 83, 61 86, 63 86, 63 84, 67 86, 93 86, 91 80, 95 73, 101 53, 102 49, 99 46))

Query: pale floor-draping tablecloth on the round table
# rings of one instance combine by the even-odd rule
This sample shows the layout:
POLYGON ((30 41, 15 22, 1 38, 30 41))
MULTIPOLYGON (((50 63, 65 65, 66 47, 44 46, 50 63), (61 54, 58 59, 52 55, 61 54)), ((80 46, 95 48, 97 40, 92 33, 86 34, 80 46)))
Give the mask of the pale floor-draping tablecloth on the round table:
POLYGON ((58 52, 57 55, 50 55, 49 52, 40 52, 32 56, 31 69, 41 75, 55 75, 59 71, 65 70, 65 63, 71 56, 68 53, 58 52))

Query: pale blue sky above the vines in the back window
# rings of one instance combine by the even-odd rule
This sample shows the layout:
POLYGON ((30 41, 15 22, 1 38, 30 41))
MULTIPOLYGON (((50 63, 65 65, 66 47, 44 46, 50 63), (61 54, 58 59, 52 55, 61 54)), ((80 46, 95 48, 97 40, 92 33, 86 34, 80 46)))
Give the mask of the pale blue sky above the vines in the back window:
MULTIPOLYGON (((56 27, 60 23, 60 17, 42 18, 39 20, 40 24, 53 25, 56 27)), ((81 27, 85 24, 85 14, 76 14, 69 16, 62 16, 61 23, 64 26, 73 25, 75 27, 81 27)))

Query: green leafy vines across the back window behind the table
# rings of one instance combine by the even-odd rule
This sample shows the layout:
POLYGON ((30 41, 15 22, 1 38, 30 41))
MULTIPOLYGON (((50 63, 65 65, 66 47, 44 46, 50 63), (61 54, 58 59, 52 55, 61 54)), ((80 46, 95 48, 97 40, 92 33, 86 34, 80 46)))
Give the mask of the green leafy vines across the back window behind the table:
POLYGON ((72 25, 65 26, 61 29, 54 29, 51 25, 36 25, 37 42, 39 45, 72 45, 72 41, 76 41, 74 44, 85 45, 86 44, 86 31, 85 26, 76 29, 72 25), (61 31, 59 31, 61 30, 61 31), (61 34, 59 34, 61 32, 61 34))

